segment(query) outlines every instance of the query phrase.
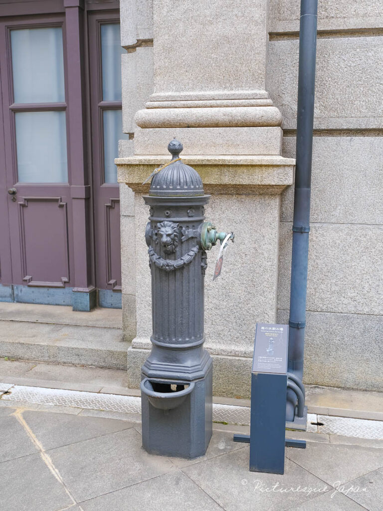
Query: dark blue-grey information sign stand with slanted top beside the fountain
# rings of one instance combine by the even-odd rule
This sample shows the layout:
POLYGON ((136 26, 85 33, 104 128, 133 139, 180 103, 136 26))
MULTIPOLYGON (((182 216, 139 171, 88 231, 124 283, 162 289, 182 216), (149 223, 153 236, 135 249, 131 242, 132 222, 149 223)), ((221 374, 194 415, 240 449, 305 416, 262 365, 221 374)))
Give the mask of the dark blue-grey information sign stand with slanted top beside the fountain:
POLYGON ((285 324, 257 323, 251 371, 250 471, 283 474, 284 448, 305 448, 303 440, 285 438, 288 387, 288 336, 285 324))

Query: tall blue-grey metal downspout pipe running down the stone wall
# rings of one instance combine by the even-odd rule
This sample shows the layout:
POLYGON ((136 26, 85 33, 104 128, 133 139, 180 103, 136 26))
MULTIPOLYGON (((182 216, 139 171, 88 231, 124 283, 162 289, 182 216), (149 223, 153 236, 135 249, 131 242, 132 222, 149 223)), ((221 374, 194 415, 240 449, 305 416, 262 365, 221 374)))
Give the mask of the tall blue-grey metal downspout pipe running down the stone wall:
MULTIPOLYGON (((317 12, 318 0, 301 0, 288 361, 289 372, 293 373, 300 381, 302 381, 303 377, 304 333, 306 326, 317 12)), ((294 420, 296 402, 295 392, 288 388, 286 421, 294 420)))

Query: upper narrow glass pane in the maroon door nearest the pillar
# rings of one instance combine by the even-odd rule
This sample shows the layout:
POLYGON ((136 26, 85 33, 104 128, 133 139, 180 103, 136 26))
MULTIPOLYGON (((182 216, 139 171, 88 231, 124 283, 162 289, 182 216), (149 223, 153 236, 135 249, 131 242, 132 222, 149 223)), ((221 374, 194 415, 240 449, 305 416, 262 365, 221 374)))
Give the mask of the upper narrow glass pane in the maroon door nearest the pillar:
POLYGON ((121 101, 121 48, 119 24, 101 25, 103 101, 121 101))

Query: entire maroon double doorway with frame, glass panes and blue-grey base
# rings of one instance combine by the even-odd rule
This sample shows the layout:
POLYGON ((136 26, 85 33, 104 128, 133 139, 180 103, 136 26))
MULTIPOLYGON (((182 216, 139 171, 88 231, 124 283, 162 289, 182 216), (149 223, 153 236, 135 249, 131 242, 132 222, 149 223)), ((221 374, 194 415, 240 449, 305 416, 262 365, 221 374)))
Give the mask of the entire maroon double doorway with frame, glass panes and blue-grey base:
POLYGON ((0 4, 0 48, 0 301, 121 307, 118 2, 0 4))

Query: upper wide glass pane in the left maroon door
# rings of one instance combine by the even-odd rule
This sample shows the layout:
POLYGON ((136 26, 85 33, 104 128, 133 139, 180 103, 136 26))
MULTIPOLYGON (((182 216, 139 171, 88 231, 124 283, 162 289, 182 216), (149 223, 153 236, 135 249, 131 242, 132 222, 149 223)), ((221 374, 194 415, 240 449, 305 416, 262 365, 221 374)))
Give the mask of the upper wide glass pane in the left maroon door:
POLYGON ((11 30, 15 103, 65 101, 60 27, 11 30))

